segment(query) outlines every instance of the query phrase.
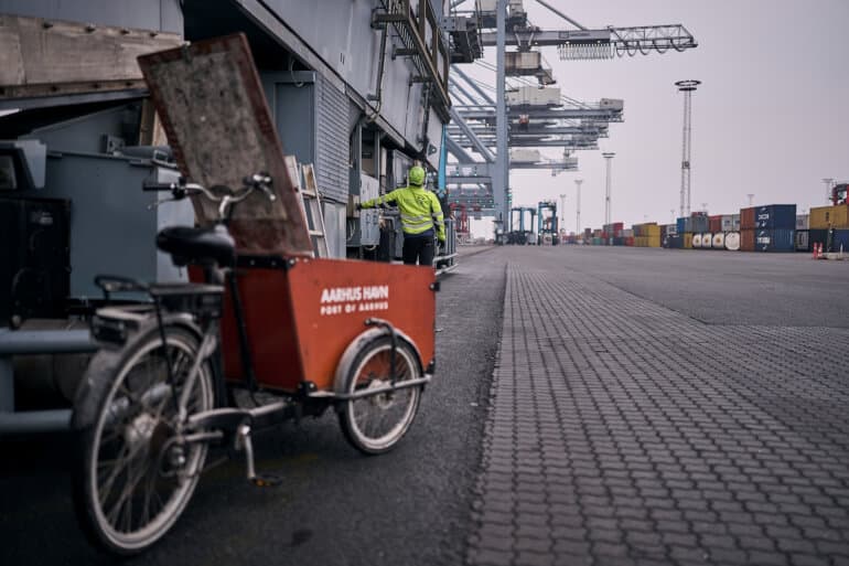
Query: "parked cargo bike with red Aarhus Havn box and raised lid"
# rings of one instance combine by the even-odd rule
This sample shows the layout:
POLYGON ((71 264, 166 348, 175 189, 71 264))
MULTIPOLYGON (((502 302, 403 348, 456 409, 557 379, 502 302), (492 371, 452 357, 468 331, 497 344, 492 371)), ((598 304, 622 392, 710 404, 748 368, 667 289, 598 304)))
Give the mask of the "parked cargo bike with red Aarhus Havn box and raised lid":
MULTIPOLYGON (((234 56, 234 43, 244 56, 239 36, 192 49, 234 56)), ((202 54, 194 53, 195 62, 202 54)), ((164 52, 140 62, 149 78, 150 66, 185 56, 164 52)), ((151 95, 168 97, 155 83, 151 95)), ((175 143, 192 120, 181 126, 159 110, 183 153, 181 169, 198 171, 175 143)), ((157 237, 160 250, 187 266, 191 282, 97 278, 107 300, 147 297, 107 305, 93 317, 100 349, 72 417, 75 508, 88 537, 110 552, 139 553, 168 533, 213 446, 244 458, 249 481, 275 484, 278 478, 256 471, 252 434, 333 409, 359 451, 390 450, 433 375, 433 270, 312 257, 279 142, 268 151, 271 158, 257 162, 272 172, 251 174, 235 191, 182 180, 146 183, 193 201, 201 227, 169 227, 157 237), (239 214, 243 207, 250 216, 239 214)))

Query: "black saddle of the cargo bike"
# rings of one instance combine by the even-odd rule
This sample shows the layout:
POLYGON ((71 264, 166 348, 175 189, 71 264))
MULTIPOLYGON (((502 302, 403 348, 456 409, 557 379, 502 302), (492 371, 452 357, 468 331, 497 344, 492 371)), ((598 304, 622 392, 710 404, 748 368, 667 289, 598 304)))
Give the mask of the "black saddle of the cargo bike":
POLYGON ((236 243, 227 228, 171 226, 157 234, 157 247, 171 254, 174 265, 216 263, 222 267, 236 265, 236 243))

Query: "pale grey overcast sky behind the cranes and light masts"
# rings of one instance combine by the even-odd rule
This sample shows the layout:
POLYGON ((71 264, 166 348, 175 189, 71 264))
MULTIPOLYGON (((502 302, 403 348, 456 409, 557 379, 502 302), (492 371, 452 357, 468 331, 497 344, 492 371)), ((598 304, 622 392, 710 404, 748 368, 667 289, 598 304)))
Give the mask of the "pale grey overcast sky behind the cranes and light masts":
MULTIPOLYGON (((849 1, 549 1, 589 29, 681 23, 699 46, 589 62, 559 61, 556 49, 544 49, 563 94, 623 98, 625 120, 611 125, 600 151, 577 152, 577 172, 513 171, 515 205, 559 202, 566 193, 571 232, 574 179, 583 179, 581 227, 600 227, 601 151, 614 151, 613 221, 670 222, 670 211, 678 215, 684 113, 674 83, 685 78, 702 82, 692 98, 692 210, 707 203, 710 214, 738 213, 754 193, 754 204, 796 203, 805 213, 826 204, 823 178, 849 180, 849 1)), ((536 25, 572 29, 535 0, 525 7, 536 25)), ((493 47, 485 55, 494 62, 493 47)))

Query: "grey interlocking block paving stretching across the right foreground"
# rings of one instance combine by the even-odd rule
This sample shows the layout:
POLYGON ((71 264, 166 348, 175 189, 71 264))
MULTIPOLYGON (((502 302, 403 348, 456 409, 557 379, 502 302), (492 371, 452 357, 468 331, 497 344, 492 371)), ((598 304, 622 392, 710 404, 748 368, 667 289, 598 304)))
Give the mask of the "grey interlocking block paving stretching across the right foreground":
POLYGON ((470 564, 849 564, 849 330, 511 257, 470 564))

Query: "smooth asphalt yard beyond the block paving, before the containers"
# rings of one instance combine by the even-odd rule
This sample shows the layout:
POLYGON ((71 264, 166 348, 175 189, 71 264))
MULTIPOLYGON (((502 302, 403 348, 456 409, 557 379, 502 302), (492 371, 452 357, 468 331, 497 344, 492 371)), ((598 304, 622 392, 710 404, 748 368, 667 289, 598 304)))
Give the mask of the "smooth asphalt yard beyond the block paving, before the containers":
POLYGON ((570 269, 708 324, 849 328, 849 260, 708 249, 558 252, 570 269))

